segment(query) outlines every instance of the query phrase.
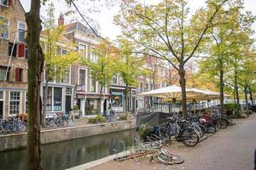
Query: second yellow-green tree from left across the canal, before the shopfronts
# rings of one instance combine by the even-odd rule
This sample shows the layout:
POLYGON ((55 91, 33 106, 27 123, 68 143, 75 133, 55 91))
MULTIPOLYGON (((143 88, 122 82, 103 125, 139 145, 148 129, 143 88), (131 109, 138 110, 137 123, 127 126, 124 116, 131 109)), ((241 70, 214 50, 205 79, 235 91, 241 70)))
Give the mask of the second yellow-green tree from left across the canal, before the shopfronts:
POLYGON ((117 72, 115 61, 118 58, 116 51, 116 48, 110 45, 109 42, 104 41, 99 43, 92 52, 96 54, 96 60, 84 60, 84 64, 90 66, 90 74, 100 84, 99 114, 102 113, 102 90, 110 85, 113 74, 117 72))

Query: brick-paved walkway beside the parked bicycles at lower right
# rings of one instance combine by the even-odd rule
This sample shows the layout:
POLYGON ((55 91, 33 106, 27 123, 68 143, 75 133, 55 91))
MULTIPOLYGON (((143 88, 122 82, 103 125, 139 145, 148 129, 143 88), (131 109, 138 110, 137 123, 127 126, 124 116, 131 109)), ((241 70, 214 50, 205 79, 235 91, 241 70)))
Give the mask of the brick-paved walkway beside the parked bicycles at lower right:
POLYGON ((179 165, 166 166, 148 158, 142 161, 108 161, 90 170, 253 170, 256 147, 256 114, 236 120, 236 125, 218 131, 194 148, 172 142, 168 149, 183 156, 179 165))

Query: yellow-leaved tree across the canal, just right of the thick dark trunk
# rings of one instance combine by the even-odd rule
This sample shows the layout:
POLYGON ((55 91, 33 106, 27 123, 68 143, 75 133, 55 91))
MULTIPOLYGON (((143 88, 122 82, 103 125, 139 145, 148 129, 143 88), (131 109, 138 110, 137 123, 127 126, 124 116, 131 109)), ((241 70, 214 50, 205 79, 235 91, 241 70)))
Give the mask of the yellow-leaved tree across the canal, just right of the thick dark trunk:
MULTIPOLYGON (((43 99, 42 126, 45 126, 46 104, 49 81, 68 77, 70 65, 79 61, 79 52, 76 52, 73 42, 69 42, 63 36, 64 26, 55 26, 55 8, 53 3, 49 3, 47 18, 43 21, 45 30, 42 32, 42 46, 44 52, 44 73, 45 87, 43 99), (61 54, 61 48, 66 54, 61 54)), ((58 80, 61 82, 61 80, 58 80)))

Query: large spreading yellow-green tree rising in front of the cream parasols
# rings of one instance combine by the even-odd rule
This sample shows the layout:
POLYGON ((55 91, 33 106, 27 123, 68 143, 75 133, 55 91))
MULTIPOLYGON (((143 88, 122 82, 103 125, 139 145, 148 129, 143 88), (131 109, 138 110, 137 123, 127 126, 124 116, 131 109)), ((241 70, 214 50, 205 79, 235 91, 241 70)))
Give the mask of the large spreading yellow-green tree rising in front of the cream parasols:
POLYGON ((214 24, 218 10, 228 0, 208 0, 189 18, 185 0, 161 0, 143 6, 135 0, 123 0, 115 23, 122 27, 124 38, 131 40, 142 53, 165 59, 179 74, 182 88, 183 116, 187 115, 184 65, 201 47, 204 36, 214 24))

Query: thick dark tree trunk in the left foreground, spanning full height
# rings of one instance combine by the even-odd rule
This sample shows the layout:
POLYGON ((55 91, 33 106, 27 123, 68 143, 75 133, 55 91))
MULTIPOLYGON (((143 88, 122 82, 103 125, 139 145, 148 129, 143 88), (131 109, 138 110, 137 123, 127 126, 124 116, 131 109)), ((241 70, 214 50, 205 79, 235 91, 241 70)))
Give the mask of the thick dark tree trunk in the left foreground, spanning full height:
POLYGON ((44 66, 44 54, 39 37, 42 30, 40 20, 40 0, 32 0, 31 10, 26 13, 27 50, 28 50, 28 127, 27 127, 27 165, 29 170, 41 167, 40 98, 41 74, 44 66))

